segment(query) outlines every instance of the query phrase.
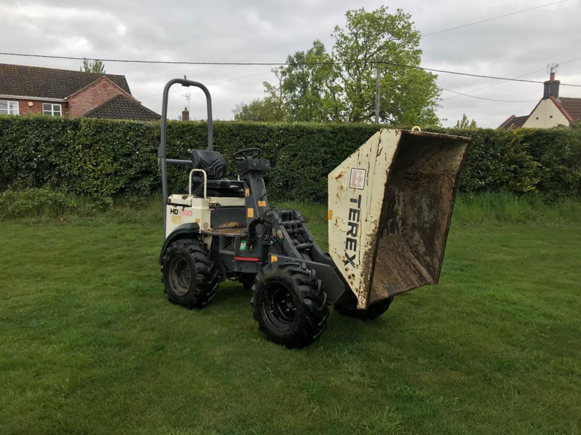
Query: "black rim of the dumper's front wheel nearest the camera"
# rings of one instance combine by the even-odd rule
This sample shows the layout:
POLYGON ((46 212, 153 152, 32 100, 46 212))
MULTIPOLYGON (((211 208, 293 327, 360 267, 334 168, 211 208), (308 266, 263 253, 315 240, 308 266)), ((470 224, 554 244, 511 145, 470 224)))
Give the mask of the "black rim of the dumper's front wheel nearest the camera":
POLYGON ((295 295, 282 282, 270 282, 264 288, 260 311, 271 329, 289 331, 296 321, 296 307, 295 295))

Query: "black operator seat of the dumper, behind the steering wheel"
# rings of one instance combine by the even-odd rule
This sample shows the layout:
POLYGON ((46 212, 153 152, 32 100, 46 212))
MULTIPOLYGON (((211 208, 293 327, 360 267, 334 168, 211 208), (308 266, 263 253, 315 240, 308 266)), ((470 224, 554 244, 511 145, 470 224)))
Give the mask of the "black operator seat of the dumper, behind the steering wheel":
MULTIPOLYGON (((206 194, 209 197, 244 196, 242 180, 228 180, 224 156, 218 151, 192 150, 192 168, 203 169, 207 175, 206 194)), ((204 195, 204 176, 200 172, 192 174, 192 193, 198 197, 204 195)))

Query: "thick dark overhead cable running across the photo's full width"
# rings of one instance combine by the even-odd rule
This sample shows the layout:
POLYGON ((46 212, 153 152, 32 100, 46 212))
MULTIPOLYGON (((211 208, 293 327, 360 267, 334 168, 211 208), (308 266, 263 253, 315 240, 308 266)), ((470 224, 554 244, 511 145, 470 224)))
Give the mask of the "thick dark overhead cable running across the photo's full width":
MULTIPOLYGON (((43 57, 49 59, 69 59, 69 60, 101 60, 103 62, 125 62, 125 63, 152 63, 152 64, 179 64, 179 65, 268 65, 268 66, 281 66, 281 65, 346 65, 346 64, 377 64, 377 60, 357 60, 352 62, 192 62, 192 61, 167 61, 167 60, 128 60, 128 59, 97 59, 94 57, 74 57, 74 56, 49 56, 49 55, 28 55, 22 53, 0 53, 4 56, 26 56, 26 57, 43 57)), ((390 65, 394 67, 401 68, 414 68, 416 70, 433 71, 435 73, 443 74, 456 74, 465 75, 468 77, 480 77, 480 78, 490 78, 494 80, 505 80, 505 81, 515 81, 515 82, 526 82, 526 83, 544 83, 537 80, 525 80, 507 77, 495 77, 493 75, 482 75, 482 74, 470 74, 461 73, 460 71, 449 71, 449 70, 437 70, 436 68, 426 68, 418 67, 413 65, 405 65, 399 63, 393 63, 388 61, 381 61, 383 65, 390 65)), ((581 85, 573 85, 561 83, 561 86, 575 86, 581 88, 581 85)))

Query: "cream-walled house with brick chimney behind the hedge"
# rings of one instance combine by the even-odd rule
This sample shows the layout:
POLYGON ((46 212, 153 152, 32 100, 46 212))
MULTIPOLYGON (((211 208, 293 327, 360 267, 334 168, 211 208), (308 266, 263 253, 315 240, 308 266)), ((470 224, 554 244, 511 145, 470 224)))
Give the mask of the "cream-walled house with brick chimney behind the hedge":
POLYGON ((581 98, 559 96, 555 73, 544 82, 543 98, 529 115, 510 115, 498 128, 551 128, 581 121, 581 98))

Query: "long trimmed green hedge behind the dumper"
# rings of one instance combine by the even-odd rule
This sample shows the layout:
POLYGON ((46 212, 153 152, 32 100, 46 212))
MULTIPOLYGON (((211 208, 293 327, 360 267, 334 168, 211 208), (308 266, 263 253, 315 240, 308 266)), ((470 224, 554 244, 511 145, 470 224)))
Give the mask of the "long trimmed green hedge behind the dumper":
MULTIPOLYGON (((205 148, 205 122, 168 123, 170 158, 205 148)), ((218 121, 214 149, 231 155, 258 147, 270 158, 269 195, 277 200, 325 201, 327 173, 377 128, 368 124, 266 124, 218 121)), ((581 195, 581 129, 436 129, 472 137, 461 189, 469 192, 539 191, 549 200, 581 195)), ((119 194, 159 189, 159 122, 91 118, 0 117, 0 190, 49 186, 89 195, 102 205, 119 194)), ((171 168, 170 191, 187 184, 171 168)))

